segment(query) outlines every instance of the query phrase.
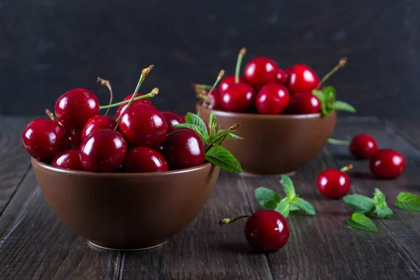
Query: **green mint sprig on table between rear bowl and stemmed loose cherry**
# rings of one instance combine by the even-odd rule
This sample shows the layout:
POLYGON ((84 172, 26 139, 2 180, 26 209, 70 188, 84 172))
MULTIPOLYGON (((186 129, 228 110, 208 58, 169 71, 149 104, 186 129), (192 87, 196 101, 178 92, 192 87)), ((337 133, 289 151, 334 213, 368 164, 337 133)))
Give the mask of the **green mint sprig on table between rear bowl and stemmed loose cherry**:
POLYGON ((282 214, 285 218, 290 213, 303 211, 307 215, 315 215, 316 211, 312 204, 303 200, 295 192, 293 181, 287 175, 281 175, 280 180, 283 191, 286 194, 281 200, 281 195, 268 188, 259 187, 255 189, 255 199, 265 209, 274 210, 282 214))

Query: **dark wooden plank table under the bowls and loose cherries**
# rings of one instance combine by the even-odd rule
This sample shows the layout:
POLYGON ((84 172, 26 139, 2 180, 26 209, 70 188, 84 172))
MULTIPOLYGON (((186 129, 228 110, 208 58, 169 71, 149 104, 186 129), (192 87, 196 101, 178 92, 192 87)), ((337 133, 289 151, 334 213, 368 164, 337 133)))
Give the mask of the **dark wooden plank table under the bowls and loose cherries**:
POLYGON ((200 215, 167 244, 126 253, 92 248, 59 221, 45 202, 32 172, 21 134, 31 118, 0 117, 0 279, 419 279, 420 213, 395 208, 401 191, 420 194, 420 127, 377 118, 339 119, 332 137, 351 139, 367 132, 379 146, 398 149, 405 173, 379 181, 367 161, 355 161, 345 146, 328 144, 300 168, 297 192, 316 208, 316 216, 288 218, 290 239, 270 254, 253 253, 244 221, 221 227, 221 218, 260 209, 253 190, 281 191, 278 177, 245 177, 221 172, 200 215), (352 163, 351 193, 371 195, 380 188, 393 216, 374 220, 379 232, 349 228, 351 210, 326 200, 316 176, 327 167, 352 163))

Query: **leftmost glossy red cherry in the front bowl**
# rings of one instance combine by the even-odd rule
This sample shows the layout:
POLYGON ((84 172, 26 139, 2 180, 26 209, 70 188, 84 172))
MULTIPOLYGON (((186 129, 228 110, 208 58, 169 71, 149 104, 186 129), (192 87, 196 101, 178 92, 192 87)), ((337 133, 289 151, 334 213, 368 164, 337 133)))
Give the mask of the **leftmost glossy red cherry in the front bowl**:
POLYGON ((65 141, 64 131, 54 120, 38 118, 32 120, 22 133, 22 142, 32 158, 50 161, 57 155, 65 141))

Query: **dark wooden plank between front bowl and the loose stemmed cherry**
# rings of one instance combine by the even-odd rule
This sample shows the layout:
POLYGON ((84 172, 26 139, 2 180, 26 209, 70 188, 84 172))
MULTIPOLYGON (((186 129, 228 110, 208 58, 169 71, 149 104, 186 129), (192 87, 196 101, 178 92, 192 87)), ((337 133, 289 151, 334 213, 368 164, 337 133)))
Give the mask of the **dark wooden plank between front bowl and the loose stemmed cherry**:
POLYGON ((244 226, 221 218, 249 214, 241 179, 221 172, 201 213, 160 248, 124 253, 122 279, 272 279, 265 255, 252 253, 244 226))

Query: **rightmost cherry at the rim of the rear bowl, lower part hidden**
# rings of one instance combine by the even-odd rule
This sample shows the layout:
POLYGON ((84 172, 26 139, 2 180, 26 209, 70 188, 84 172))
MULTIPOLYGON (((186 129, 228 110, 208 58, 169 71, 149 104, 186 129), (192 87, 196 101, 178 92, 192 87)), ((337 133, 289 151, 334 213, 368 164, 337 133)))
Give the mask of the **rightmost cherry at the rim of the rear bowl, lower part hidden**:
POLYGON ((290 97, 286 111, 293 115, 321 113, 321 102, 311 92, 297 92, 290 97))

